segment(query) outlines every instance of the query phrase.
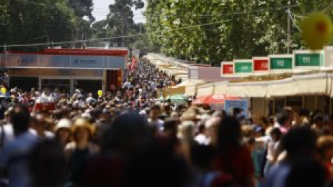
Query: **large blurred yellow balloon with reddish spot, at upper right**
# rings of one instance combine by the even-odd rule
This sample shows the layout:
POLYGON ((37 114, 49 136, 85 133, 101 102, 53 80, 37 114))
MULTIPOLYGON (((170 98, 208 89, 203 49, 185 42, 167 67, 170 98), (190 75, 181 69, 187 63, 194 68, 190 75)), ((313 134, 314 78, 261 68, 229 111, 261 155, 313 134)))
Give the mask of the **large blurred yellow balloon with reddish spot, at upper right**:
POLYGON ((332 37, 332 20, 323 12, 313 12, 302 20, 302 38, 311 50, 321 50, 332 37))

